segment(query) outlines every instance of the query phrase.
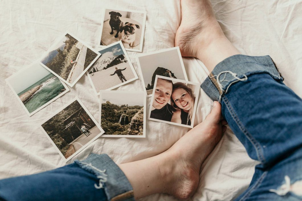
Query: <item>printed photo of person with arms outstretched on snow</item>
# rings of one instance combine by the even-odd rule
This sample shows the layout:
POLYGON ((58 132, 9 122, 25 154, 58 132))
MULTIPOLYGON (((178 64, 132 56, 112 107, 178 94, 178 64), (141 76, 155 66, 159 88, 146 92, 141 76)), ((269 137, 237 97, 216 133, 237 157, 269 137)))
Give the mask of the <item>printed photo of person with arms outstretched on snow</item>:
POLYGON ((137 74, 120 41, 99 51, 101 56, 87 71, 89 81, 97 95, 100 90, 111 90, 136 80, 137 74))

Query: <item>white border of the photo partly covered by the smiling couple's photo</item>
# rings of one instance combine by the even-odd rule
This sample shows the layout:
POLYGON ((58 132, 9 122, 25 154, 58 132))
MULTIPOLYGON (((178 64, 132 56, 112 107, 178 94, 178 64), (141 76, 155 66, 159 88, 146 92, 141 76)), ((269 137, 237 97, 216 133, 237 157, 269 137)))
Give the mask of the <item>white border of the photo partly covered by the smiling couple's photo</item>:
MULTIPOLYGON (((187 76, 187 73, 186 73, 186 70, 185 70, 185 65, 184 65, 184 62, 182 61, 182 55, 181 55, 181 53, 180 53, 180 49, 179 49, 178 46, 172 47, 172 48, 168 48, 168 49, 162 49, 162 50, 155 51, 155 52, 151 52, 151 53, 140 54, 140 56, 137 56, 137 57, 136 57, 136 59, 137 59, 137 66, 138 66, 138 68, 139 68, 140 78, 141 78, 142 84, 143 84, 143 89, 144 89, 144 91, 146 92, 146 94, 147 94, 147 90, 146 90, 145 81, 144 81, 143 72, 142 72, 142 67, 141 67, 141 65, 140 65, 140 60, 139 60, 139 58, 140 58, 140 57, 143 57, 143 56, 152 55, 152 54, 168 52, 168 51, 171 51, 171 50, 174 50, 174 49, 177 49, 178 56, 179 56, 179 60, 180 60, 180 64, 181 64, 181 66, 182 66, 182 72, 184 73, 185 80, 188 81, 188 76, 187 76)), ((154 86, 155 86, 155 83, 154 83, 154 86)), ((153 94, 153 93, 152 93, 152 94, 153 94)), ((147 97, 151 97, 152 94, 147 95, 147 97)))

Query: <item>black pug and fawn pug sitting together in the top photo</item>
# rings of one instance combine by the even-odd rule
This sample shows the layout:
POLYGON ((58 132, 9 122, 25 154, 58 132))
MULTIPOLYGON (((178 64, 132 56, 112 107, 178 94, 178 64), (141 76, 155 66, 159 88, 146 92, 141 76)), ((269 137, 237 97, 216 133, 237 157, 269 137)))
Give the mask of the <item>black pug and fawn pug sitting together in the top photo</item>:
POLYGON ((118 37, 118 34, 120 32, 120 40, 129 43, 129 46, 133 47, 133 42, 135 40, 136 34, 135 32, 137 29, 140 28, 138 24, 133 24, 129 22, 123 22, 120 20, 120 17, 122 15, 119 12, 111 11, 110 14, 110 21, 109 25, 111 27, 110 34, 112 35, 114 33, 114 30, 116 30, 115 38, 118 37))

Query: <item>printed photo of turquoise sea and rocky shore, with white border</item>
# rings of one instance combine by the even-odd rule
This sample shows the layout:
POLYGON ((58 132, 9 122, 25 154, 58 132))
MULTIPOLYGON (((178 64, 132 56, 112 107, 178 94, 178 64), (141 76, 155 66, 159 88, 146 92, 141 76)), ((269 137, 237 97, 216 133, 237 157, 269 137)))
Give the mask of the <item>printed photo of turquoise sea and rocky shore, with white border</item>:
POLYGON ((37 62, 5 81, 29 116, 69 91, 65 83, 37 62))

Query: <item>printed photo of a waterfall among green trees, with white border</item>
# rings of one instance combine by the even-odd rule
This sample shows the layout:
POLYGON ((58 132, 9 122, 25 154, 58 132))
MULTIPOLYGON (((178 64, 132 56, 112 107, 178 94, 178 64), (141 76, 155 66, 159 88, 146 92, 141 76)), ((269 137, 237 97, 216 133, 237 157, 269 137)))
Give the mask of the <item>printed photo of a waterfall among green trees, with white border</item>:
POLYGON ((99 122, 102 137, 146 137, 146 93, 101 91, 99 122))

